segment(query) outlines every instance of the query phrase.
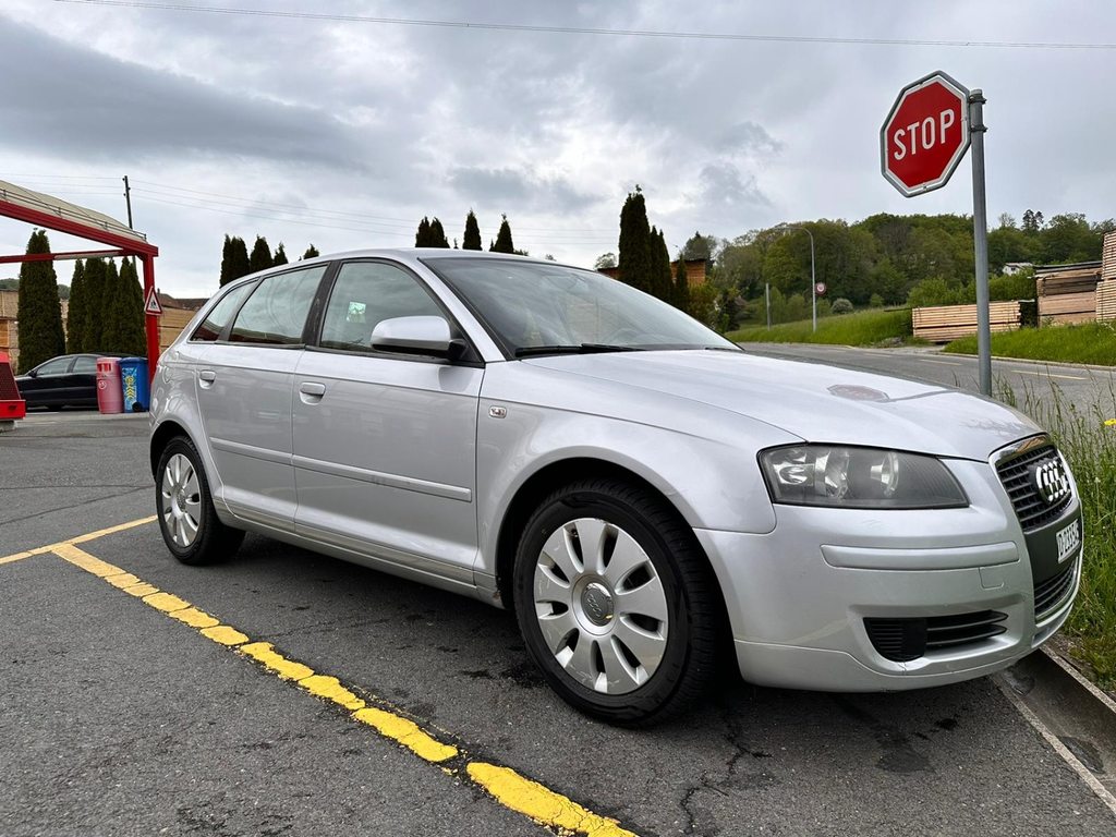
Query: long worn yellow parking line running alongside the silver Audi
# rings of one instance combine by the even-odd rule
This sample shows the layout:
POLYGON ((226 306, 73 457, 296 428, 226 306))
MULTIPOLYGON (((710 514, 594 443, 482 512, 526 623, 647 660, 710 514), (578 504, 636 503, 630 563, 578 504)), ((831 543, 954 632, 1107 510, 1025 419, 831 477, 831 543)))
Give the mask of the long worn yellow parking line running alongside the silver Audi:
MULTIPOLYGON (((141 526, 152 520, 154 518, 145 518, 125 523, 122 527, 92 532, 89 536, 71 538, 48 548, 32 550, 32 552, 19 554, 19 556, 40 555, 44 551, 54 552, 75 567, 79 567, 113 587, 135 596, 154 610, 194 628, 205 638, 254 661, 280 680, 289 681, 298 689, 337 704, 346 710, 353 720, 371 727, 385 739, 406 748, 423 761, 439 766, 449 776, 471 781, 483 789, 499 805, 529 817, 538 825, 564 835, 636 837, 634 833, 622 828, 615 819, 594 814, 511 768, 472 760, 468 753, 453 744, 440 741, 410 718, 391 711, 386 705, 369 705, 367 701, 359 698, 337 677, 319 674, 304 663, 285 657, 270 643, 252 642, 247 634, 231 625, 223 624, 215 616, 194 607, 185 599, 161 590, 133 574, 75 546, 77 542, 93 540, 93 536, 104 537, 113 531, 141 526)), ((15 556, 9 556, 9 558, 16 559, 15 556)))

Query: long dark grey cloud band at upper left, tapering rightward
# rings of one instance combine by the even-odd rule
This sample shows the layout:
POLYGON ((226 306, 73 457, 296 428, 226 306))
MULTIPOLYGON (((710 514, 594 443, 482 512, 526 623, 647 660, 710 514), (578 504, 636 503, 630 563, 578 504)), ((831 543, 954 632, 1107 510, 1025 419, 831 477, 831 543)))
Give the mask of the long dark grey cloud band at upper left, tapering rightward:
POLYGON ((0 119, 3 145, 76 160, 237 155, 363 167, 352 131, 328 114, 119 61, 2 18, 0 119))

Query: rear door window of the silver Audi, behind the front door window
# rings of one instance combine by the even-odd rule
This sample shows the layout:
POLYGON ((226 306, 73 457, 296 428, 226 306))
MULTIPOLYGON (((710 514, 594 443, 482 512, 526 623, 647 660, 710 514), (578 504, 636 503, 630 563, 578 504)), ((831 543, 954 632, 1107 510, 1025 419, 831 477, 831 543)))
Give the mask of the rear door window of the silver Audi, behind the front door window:
POLYGON ((263 279, 241 307, 229 339, 269 346, 302 343, 302 328, 326 267, 317 264, 263 279))

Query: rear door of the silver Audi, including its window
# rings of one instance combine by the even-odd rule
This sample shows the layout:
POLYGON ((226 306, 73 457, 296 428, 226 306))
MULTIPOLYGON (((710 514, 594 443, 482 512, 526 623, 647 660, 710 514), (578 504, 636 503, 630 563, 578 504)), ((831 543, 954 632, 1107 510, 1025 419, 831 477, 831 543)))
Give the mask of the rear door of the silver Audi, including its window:
POLYGON ((291 387, 326 268, 266 276, 220 338, 199 349, 195 365, 221 499, 238 517, 285 531, 294 529, 297 504, 291 387))

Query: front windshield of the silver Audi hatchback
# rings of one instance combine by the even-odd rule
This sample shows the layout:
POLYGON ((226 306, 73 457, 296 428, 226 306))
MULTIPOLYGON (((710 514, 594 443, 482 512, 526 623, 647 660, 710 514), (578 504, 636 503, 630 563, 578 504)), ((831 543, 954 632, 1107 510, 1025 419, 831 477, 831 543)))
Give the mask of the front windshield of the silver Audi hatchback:
POLYGON ((424 262, 469 305, 512 357, 729 349, 716 333, 643 291, 593 270, 513 259, 424 262))

